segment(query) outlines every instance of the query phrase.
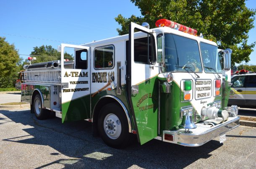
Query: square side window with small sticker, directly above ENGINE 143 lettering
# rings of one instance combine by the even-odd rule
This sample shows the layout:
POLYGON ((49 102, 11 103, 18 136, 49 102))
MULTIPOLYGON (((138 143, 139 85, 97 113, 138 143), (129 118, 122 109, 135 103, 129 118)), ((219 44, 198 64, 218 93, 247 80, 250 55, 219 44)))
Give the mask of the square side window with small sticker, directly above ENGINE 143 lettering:
POLYGON ((113 45, 95 48, 94 50, 94 68, 112 69, 114 67, 115 48, 113 45))

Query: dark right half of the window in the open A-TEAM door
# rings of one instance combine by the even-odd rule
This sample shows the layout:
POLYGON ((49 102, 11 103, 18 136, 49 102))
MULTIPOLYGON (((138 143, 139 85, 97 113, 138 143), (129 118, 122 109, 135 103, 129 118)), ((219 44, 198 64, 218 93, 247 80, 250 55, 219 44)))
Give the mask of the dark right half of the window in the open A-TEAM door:
POLYGON ((76 69, 87 69, 87 50, 76 50, 76 69))

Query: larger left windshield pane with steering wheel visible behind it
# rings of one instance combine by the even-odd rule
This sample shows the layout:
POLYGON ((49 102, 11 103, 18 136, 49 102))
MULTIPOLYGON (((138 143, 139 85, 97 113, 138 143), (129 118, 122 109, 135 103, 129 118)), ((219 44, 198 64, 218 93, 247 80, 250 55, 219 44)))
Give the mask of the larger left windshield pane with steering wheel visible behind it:
POLYGON ((165 34, 165 64, 162 71, 202 72, 197 41, 170 33, 165 34))

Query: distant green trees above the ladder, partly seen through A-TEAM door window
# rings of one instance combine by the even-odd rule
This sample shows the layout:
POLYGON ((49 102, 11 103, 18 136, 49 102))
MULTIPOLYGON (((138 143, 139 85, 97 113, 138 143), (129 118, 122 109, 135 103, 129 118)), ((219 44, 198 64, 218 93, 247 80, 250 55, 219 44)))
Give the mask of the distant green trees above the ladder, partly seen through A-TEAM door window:
MULTIPOLYGON (((34 51, 30 53, 31 57, 36 57, 37 60, 33 60, 32 63, 41 63, 48 61, 57 61, 60 60, 61 53, 57 49, 52 48, 51 45, 42 45, 40 47, 34 47, 34 51)), ((69 60, 74 60, 73 55, 65 52, 64 58, 69 60)), ((28 64, 28 59, 25 60, 24 64, 28 64)))

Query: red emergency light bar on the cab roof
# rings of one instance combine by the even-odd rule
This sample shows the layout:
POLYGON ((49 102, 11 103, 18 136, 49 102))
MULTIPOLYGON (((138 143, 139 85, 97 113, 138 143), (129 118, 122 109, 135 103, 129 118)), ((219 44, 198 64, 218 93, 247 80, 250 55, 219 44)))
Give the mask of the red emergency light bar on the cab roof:
POLYGON ((167 19, 159 19, 156 22, 156 26, 157 27, 170 27, 170 28, 178 28, 178 30, 185 32, 185 33, 189 33, 191 35, 195 35, 197 36, 197 30, 189 28, 187 26, 181 25, 179 23, 175 23, 173 21, 167 20, 167 19))

